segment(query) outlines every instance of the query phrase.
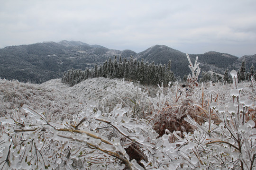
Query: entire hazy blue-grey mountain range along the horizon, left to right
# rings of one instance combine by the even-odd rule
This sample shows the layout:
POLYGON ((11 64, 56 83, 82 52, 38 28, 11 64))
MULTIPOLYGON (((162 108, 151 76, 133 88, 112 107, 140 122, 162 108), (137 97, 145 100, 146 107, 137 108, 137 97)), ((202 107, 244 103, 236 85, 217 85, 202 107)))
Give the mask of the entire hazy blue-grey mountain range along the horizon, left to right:
MULTIPOLYGON (((21 82, 42 83, 53 78, 60 78, 68 69, 92 68, 105 60, 121 55, 122 58, 133 56, 144 62, 167 64, 172 61, 171 70, 175 76, 183 77, 190 73, 186 54, 167 47, 155 45, 145 51, 136 53, 131 50, 111 50, 101 45, 90 45, 79 41, 42 42, 30 45, 9 46, 0 49, 0 77, 17 79, 21 82)), ((190 54, 192 62, 196 56, 203 71, 223 74, 226 68, 238 69, 242 60, 247 69, 256 65, 256 55, 236 56, 215 51, 204 54, 190 54)))

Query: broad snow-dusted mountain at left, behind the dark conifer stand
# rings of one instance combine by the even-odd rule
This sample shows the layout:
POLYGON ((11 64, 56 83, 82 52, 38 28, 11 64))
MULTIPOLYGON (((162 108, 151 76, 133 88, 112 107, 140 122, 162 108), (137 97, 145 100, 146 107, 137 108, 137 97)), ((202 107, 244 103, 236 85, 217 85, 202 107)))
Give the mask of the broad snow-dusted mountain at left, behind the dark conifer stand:
POLYGON ((110 50, 84 42, 42 42, 0 49, 0 77, 21 82, 43 83, 60 78, 68 69, 86 69, 115 55, 129 57, 136 52, 110 50))

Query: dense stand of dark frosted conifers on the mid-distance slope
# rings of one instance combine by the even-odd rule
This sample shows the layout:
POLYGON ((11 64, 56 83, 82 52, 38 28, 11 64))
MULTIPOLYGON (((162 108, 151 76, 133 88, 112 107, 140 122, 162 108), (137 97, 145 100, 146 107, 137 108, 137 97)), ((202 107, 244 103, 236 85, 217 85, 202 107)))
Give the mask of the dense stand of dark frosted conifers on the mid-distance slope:
POLYGON ((155 62, 144 63, 144 59, 137 61, 131 56, 119 59, 115 56, 114 60, 109 58, 103 65, 98 66, 95 64, 94 68, 86 70, 69 69, 64 72, 62 76, 62 83, 71 86, 80 83, 81 81, 91 77, 108 77, 108 78, 125 78, 126 80, 140 81, 142 84, 157 85, 163 83, 168 85, 171 81, 176 81, 174 73, 171 71, 171 61, 169 60, 167 66, 164 64, 156 64, 155 62))

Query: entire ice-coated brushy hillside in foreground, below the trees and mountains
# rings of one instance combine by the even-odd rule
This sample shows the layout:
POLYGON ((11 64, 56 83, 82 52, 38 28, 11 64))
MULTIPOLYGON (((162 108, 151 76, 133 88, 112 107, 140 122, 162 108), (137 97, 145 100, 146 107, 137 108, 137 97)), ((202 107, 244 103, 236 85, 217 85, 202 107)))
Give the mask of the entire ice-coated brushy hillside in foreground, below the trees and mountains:
POLYGON ((0 79, 0 168, 255 169, 255 82, 194 83, 0 79))

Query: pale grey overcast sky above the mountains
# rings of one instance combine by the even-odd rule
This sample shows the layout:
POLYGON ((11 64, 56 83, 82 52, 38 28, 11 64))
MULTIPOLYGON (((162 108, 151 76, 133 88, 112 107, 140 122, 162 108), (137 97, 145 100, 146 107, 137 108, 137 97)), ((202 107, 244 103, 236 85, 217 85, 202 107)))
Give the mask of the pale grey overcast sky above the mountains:
POLYGON ((0 48, 61 40, 256 54, 256 0, 0 0, 0 48))

